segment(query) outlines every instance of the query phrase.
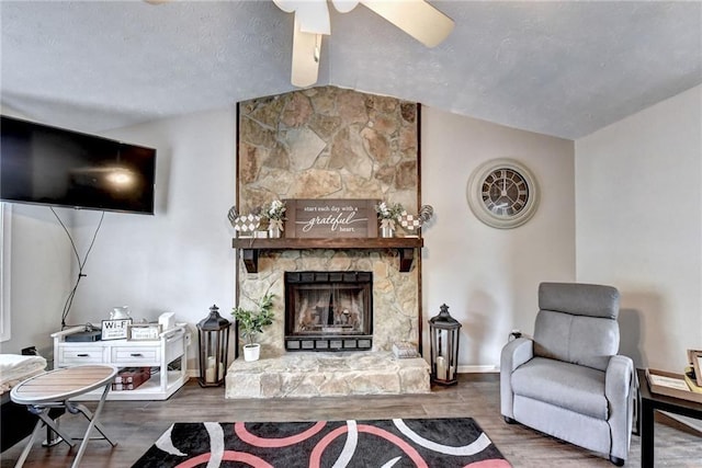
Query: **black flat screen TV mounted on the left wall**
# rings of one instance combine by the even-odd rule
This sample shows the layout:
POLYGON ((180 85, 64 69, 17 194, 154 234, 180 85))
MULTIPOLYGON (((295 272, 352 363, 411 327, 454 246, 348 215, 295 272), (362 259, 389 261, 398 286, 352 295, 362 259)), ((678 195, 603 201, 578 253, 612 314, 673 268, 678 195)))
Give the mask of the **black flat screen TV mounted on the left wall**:
POLYGON ((155 149, 0 118, 3 202, 154 214, 155 149))

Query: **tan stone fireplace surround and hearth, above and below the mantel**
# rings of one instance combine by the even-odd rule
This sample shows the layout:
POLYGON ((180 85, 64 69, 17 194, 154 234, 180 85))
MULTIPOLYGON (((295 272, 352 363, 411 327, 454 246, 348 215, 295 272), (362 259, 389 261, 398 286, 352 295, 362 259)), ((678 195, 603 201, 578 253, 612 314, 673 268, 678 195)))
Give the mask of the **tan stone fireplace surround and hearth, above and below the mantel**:
MULTIPOLYGON (((419 206, 419 106, 332 87, 239 104, 239 213, 274 198, 377 198, 419 206)), ((401 233, 400 233, 401 235, 401 233)), ((258 272, 237 255, 237 304, 275 294, 275 319, 261 340, 262 357, 236 359, 227 398, 314 397, 429 391, 423 358, 396 359, 396 341, 419 342, 421 261, 398 269, 392 249, 261 251, 258 272), (370 351, 286 352, 285 272, 359 271, 373 275, 370 351)))

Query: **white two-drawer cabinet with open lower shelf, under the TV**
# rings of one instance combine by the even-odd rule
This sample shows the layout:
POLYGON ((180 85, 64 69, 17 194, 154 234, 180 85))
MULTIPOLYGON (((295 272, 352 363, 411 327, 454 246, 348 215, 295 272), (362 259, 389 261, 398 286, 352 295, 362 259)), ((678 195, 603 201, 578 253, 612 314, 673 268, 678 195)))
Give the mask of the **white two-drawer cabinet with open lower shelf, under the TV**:
MULTIPOLYGON (((83 330, 84 327, 73 327, 52 334, 55 367, 112 364, 117 368, 152 368, 151 378, 138 388, 110 391, 107 400, 166 400, 188 381, 190 333, 184 324, 160 333, 152 341, 66 341, 66 336, 83 330)), ((101 392, 86 393, 80 399, 99 400, 101 392)))

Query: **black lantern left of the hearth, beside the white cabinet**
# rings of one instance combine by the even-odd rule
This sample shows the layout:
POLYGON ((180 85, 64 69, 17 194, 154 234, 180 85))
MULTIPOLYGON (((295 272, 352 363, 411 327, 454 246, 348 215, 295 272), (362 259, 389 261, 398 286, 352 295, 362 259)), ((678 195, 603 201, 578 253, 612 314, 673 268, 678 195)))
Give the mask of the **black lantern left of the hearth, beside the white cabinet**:
POLYGON ((201 387, 218 387, 224 384, 229 351, 229 320, 219 315, 219 308, 212 306, 210 316, 197 323, 200 339, 201 387))

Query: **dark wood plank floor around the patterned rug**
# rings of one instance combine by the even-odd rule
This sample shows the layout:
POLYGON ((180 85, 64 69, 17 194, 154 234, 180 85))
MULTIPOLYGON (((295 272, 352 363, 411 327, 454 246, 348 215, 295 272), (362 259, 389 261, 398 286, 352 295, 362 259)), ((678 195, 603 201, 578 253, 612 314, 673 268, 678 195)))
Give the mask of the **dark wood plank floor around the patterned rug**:
MULTIPOLYGON (((94 403, 87 403, 94 408, 94 403)), ((194 379, 167 401, 107 401, 102 422, 116 447, 91 441, 83 457, 86 467, 129 467, 173 422, 202 421, 316 421, 389 418, 472 416, 514 467, 613 467, 595 454, 519 424, 508 425, 499 412, 497 374, 461 375, 457 386, 435 388, 422 396, 366 396, 353 398, 226 400, 224 388, 200 388, 194 379)), ((61 427, 79 435, 82 416, 61 416, 61 427)), ((702 467, 702 434, 672 420, 656 422, 656 466, 702 467)), ((12 467, 24 443, 2 454, 1 467, 12 467)), ((26 467, 70 466, 76 448, 66 444, 35 444, 26 467)), ((632 436, 627 467, 641 466, 638 436, 632 436)), ((284 467, 283 467, 284 468, 284 467)))

